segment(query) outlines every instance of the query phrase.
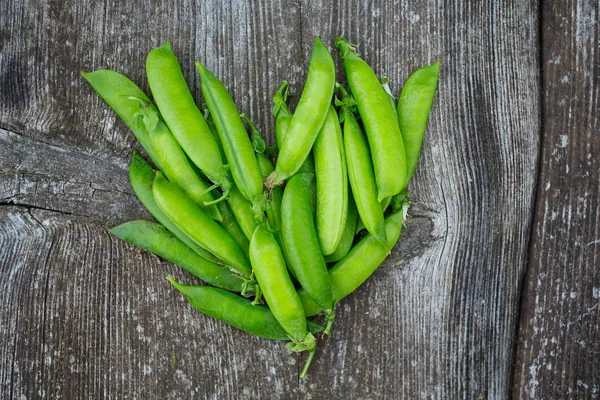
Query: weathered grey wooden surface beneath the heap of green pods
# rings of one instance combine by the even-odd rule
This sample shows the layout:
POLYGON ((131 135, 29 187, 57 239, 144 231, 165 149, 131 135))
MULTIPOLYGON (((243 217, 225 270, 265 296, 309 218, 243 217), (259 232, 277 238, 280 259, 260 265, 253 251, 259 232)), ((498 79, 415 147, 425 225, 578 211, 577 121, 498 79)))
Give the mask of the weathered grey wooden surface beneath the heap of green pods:
MULTIPOLYGON (((593 1, 0 3, 0 398, 600 398, 593 1), (106 228, 148 214, 134 136, 80 71, 147 91, 166 40, 273 141, 316 35, 397 95, 442 61, 400 243, 304 356, 195 312, 106 228)), ((340 80, 342 69, 338 67, 340 80)), ((296 97, 297 99, 297 97, 296 97)))

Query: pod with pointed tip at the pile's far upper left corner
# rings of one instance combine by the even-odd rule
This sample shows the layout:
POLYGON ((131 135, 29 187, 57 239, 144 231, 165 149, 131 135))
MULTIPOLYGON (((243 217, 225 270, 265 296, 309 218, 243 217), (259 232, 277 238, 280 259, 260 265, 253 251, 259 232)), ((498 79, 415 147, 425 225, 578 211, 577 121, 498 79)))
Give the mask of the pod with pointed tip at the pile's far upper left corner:
POLYGON ((160 160, 150 143, 150 135, 146 125, 140 118, 142 116, 140 114, 140 102, 135 100, 139 99, 145 104, 151 104, 148 96, 135 83, 115 71, 100 69, 94 72, 82 72, 81 75, 121 117, 125 125, 131 129, 142 147, 144 147, 154 165, 162 171, 160 160))

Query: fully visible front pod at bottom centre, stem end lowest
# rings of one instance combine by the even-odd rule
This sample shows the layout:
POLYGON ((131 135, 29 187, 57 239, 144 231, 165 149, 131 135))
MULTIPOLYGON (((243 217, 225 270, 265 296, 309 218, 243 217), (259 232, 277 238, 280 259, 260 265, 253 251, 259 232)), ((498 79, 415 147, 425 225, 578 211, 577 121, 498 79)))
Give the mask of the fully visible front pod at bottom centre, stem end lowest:
MULTIPOLYGON (((298 292, 288 275, 279 243, 269 229, 259 225, 250 241, 250 263, 265 301, 275 319, 296 343, 307 339, 306 317, 298 292)), ((314 338, 312 338, 314 349, 314 338)))

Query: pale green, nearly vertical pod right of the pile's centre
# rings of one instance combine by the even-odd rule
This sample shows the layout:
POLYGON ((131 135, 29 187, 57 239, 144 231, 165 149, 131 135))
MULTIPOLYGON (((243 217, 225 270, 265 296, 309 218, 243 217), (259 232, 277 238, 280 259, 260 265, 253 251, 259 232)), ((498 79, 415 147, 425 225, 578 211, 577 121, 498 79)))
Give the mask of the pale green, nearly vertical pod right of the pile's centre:
POLYGON ((313 154, 317 181, 317 235, 323 254, 329 255, 342 239, 348 211, 344 140, 332 105, 315 141, 313 154))

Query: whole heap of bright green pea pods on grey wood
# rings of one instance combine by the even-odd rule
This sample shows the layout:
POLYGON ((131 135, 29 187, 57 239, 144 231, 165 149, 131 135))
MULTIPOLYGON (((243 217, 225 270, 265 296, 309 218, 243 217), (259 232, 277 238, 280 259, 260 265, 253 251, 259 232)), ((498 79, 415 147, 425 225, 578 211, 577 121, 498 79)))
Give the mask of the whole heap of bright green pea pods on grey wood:
POLYGON ((273 97, 275 146, 196 62, 206 103, 198 107, 169 43, 146 59, 154 103, 117 72, 83 73, 154 164, 134 153, 129 178, 157 222, 110 232, 202 280, 167 277, 196 309, 307 351, 301 376, 336 304, 398 241, 440 66, 416 70, 396 103, 356 45, 340 37, 335 46, 349 90, 316 38, 294 112, 287 82, 273 97), (307 319, 318 314, 322 324, 307 319))

